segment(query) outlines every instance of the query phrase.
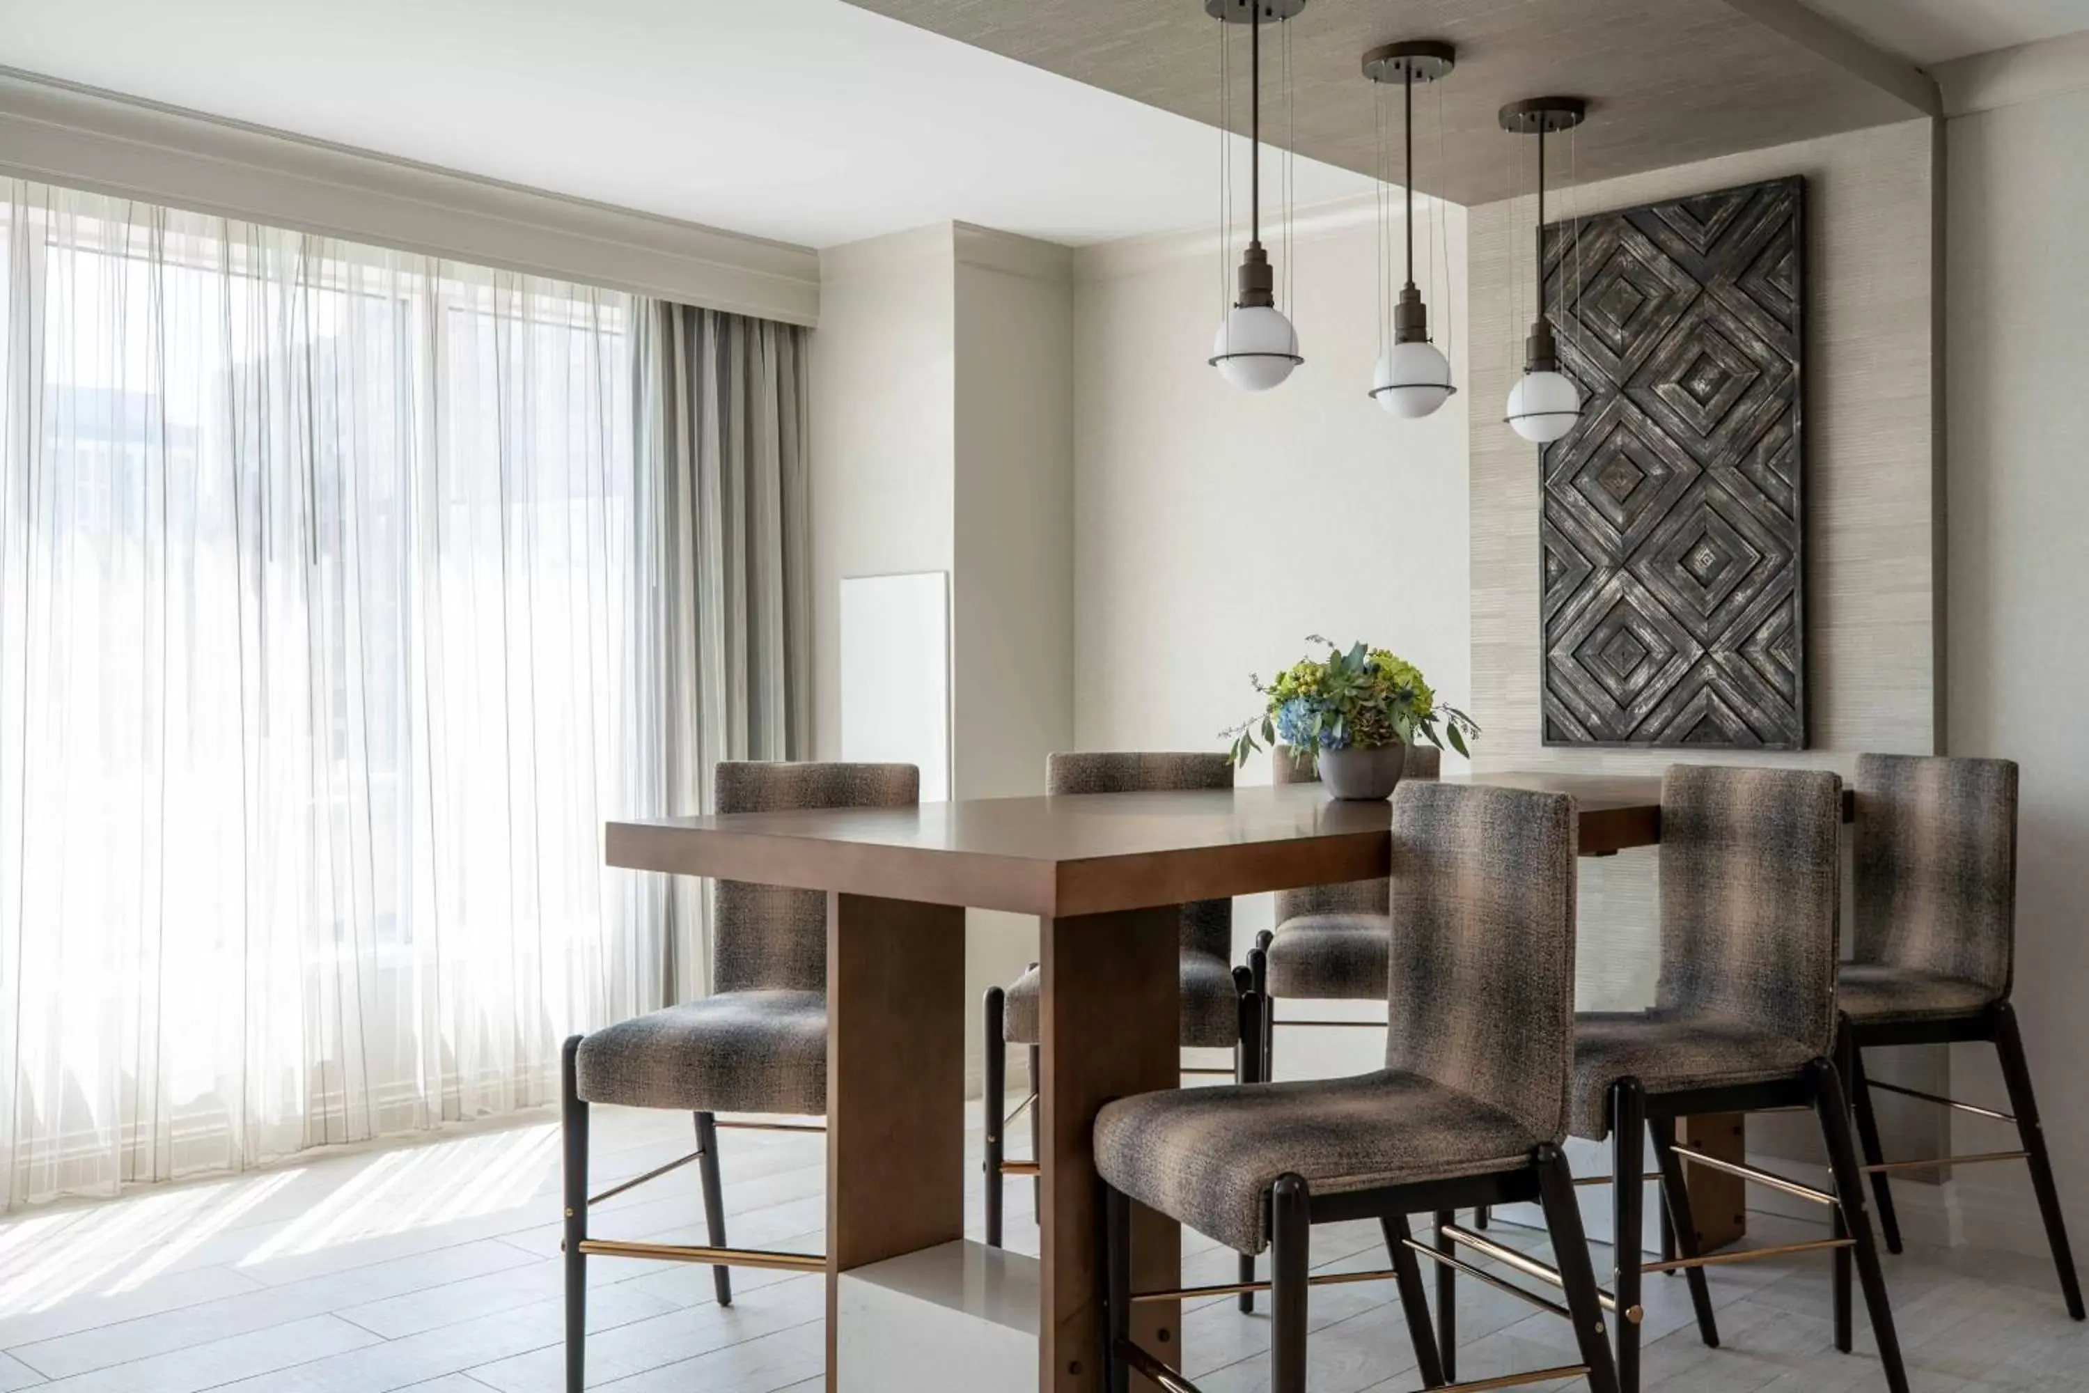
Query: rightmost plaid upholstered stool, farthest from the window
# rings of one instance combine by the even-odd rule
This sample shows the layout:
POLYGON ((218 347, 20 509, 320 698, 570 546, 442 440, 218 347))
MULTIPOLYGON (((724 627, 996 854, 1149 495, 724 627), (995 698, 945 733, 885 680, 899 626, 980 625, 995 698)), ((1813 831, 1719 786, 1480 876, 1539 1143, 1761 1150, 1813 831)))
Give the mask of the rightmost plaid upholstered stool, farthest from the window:
MULTIPOLYGON (((2060 1270, 2060 1293, 2074 1320, 2083 1318, 2083 1291, 2068 1249, 2068 1230, 2045 1153, 2039 1103, 2031 1090, 2031 1063, 2010 1005, 2016 971, 2016 764, 2010 760, 1957 760, 1903 754, 1865 754, 1857 760, 1855 854, 1857 959, 1842 963, 1842 1007, 1851 1101, 1857 1136, 1872 1165, 1878 1226, 1886 1247, 1901 1251, 1872 1113, 1872 1088, 2016 1124, 2031 1188, 2045 1220, 2045 1238, 2060 1270), (1870 1082, 1865 1046, 1993 1042, 2014 1115, 1968 1107, 1951 1099, 1870 1082)), ((1974 1157, 1980 1159, 1980 1157, 1974 1157)), ((1989 1153, 1987 1159, 2016 1159, 1989 1153)), ((1939 1157, 1966 1165, 1966 1157, 1939 1157)), ((1895 1161, 1916 1170, 1920 1161, 1895 1161)))

